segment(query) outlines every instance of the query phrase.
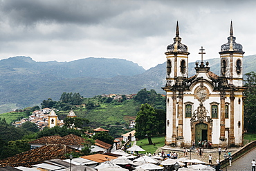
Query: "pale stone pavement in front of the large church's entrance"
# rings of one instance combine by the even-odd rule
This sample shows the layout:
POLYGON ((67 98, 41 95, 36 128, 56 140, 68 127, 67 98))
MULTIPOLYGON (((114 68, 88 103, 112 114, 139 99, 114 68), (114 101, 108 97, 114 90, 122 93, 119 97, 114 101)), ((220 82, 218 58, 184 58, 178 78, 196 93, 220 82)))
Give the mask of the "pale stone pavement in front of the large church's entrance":
MULTIPOLYGON (((228 151, 231 151, 231 155, 232 155, 233 152, 236 152, 239 149, 240 148, 228 148, 228 151)), ((208 163, 209 154, 211 154, 213 165, 216 165, 216 160, 219 159, 218 148, 213 148, 213 149, 204 148, 202 157, 199 156, 199 153, 197 152, 196 149, 192 150, 191 153, 190 153, 190 149, 188 149, 189 152, 188 152, 187 156, 184 155, 184 152, 183 152, 184 148, 176 148, 176 147, 172 147, 169 145, 165 145, 162 148, 158 148, 158 150, 156 152, 161 152, 162 150, 165 152, 165 154, 175 151, 178 154, 178 158, 185 157, 187 159, 190 159, 190 154, 191 154, 191 159, 199 159, 206 163, 208 163)), ((224 154, 228 154, 228 152, 221 152, 221 155, 220 155, 221 160, 224 159, 224 157, 223 157, 224 154)), ((256 157, 255 157, 255 159, 256 159, 256 157)))

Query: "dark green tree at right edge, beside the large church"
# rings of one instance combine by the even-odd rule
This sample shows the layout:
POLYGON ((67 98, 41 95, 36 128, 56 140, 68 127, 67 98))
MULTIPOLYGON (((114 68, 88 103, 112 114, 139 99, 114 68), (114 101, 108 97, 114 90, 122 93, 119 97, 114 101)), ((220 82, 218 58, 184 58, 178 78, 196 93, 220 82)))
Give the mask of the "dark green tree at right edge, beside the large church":
POLYGON ((245 74, 245 86, 247 90, 244 92, 246 99, 244 101, 244 128, 248 132, 256 132, 256 73, 248 72, 245 74))

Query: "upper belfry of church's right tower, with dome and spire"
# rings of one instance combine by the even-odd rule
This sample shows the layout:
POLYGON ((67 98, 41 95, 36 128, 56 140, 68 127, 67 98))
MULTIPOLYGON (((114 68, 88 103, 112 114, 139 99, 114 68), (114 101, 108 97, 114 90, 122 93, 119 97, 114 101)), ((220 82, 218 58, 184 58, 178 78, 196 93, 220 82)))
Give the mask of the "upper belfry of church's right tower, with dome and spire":
POLYGON ((221 77, 228 79, 230 86, 243 86, 243 46, 235 42, 232 21, 230 23, 230 37, 228 43, 221 46, 221 77))

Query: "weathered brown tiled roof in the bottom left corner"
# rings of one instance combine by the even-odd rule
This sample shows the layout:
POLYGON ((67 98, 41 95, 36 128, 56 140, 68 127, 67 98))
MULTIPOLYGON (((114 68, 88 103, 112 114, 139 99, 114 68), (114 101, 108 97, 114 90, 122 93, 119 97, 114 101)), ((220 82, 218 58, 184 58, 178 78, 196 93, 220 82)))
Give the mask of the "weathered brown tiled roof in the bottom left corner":
POLYGON ((40 148, 28 150, 13 157, 3 159, 0 161, 0 167, 31 167, 31 165, 43 163, 46 160, 68 159, 64 154, 71 153, 74 150, 66 145, 44 145, 40 148))

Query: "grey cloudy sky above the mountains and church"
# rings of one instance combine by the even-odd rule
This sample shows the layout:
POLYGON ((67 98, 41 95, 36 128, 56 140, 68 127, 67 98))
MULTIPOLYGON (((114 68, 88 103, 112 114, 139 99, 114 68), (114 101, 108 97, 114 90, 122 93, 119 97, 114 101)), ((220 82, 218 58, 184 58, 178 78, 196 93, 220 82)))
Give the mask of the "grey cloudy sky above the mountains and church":
POLYGON ((230 21, 245 55, 256 54, 256 1, 0 0, 0 59, 127 59, 146 70, 165 62, 179 21, 190 61, 219 57, 230 21))

